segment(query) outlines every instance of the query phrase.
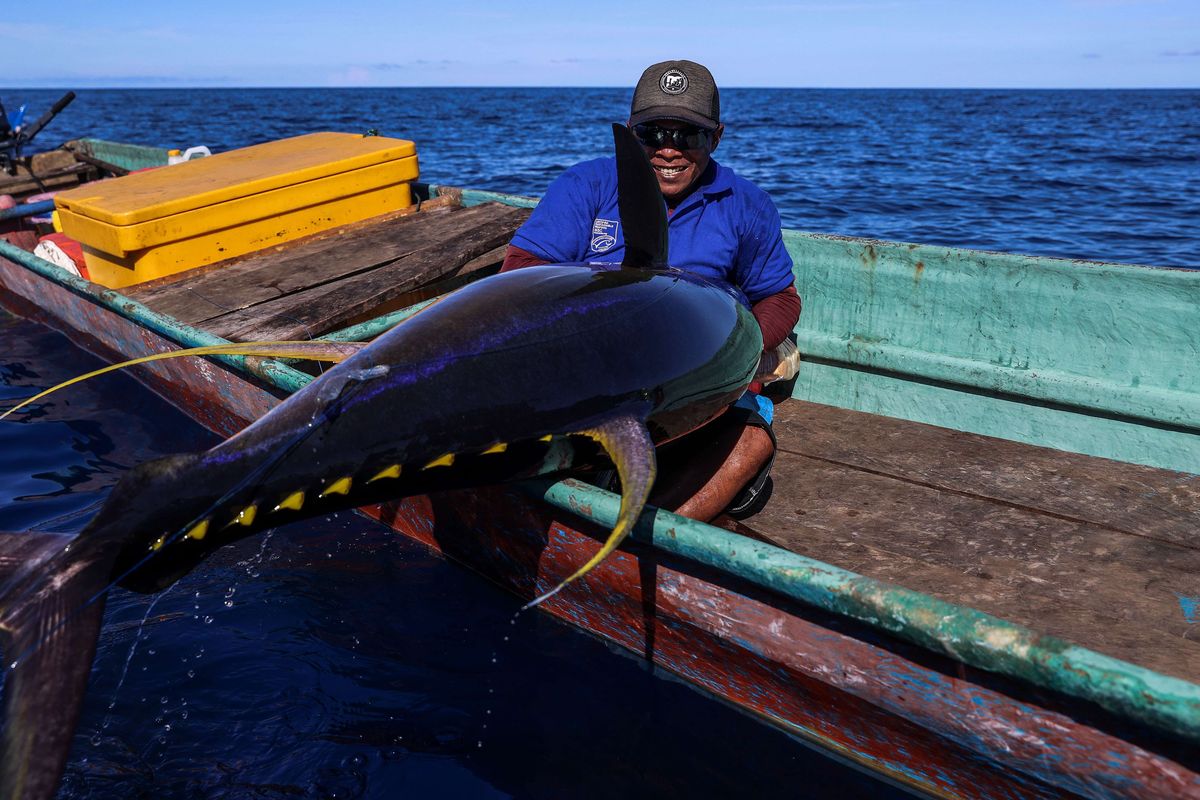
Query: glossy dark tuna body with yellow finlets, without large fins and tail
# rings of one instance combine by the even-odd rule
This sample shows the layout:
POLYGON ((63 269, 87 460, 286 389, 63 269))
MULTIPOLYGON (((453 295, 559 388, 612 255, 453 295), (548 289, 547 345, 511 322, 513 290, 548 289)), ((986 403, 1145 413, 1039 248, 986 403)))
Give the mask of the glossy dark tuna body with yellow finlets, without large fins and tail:
POLYGON ((590 440, 571 434, 614 419, 672 439, 737 399, 761 348, 730 290, 679 271, 498 275, 212 450, 137 468, 88 536, 120 541, 122 585, 157 590, 214 548, 300 516, 594 462, 590 440), (203 536, 187 535, 202 523, 203 536))

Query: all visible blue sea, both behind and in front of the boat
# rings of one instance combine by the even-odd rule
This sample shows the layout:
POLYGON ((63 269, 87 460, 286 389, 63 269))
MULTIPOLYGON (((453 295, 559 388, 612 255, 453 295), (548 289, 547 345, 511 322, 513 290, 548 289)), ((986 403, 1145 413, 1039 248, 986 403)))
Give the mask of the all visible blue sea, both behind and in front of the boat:
MULTIPOLYGON (((422 179, 540 194, 628 89, 82 91, 38 144, 414 139, 422 179)), ((36 116, 61 91, 0 90, 36 116)), ((716 157, 804 230, 1200 267, 1200 91, 726 90, 716 157)), ((0 407, 98 361, 0 311, 0 407)), ((0 529, 74 531, 211 434, 130 378, 0 422, 0 529)), ((113 594, 62 798, 892 798, 355 515, 113 594)))

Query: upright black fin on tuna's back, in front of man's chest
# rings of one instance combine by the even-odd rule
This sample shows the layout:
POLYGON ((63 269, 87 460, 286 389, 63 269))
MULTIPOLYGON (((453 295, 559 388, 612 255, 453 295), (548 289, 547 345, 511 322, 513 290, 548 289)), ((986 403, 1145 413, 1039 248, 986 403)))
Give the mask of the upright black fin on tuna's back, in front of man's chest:
POLYGON ((617 207, 625 231, 622 266, 660 270, 667 265, 667 207, 642 144, 613 122, 617 149, 617 207))

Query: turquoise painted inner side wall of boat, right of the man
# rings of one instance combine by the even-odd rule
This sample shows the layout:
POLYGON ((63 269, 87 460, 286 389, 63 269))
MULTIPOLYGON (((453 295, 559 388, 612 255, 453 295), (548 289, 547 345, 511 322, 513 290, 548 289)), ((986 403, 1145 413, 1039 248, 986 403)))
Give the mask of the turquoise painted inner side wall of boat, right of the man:
POLYGON ((784 237, 797 397, 1200 471, 1200 271, 784 237))

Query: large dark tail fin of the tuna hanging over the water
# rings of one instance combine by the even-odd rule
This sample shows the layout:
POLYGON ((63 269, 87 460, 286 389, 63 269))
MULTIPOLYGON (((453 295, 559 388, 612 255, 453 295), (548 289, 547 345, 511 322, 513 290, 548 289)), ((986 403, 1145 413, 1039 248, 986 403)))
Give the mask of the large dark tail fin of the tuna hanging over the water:
POLYGON ((96 652, 110 564, 72 558, 72 539, 0 533, 0 796, 12 800, 54 796, 96 652))

